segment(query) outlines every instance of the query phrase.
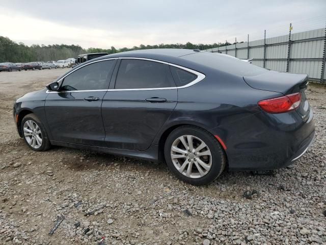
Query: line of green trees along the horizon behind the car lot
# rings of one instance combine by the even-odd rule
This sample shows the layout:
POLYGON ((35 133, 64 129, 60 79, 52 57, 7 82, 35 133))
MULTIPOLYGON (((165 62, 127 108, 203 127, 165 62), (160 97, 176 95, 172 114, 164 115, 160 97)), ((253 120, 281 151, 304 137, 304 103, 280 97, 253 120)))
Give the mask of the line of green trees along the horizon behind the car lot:
MULTIPOLYGON (((86 53, 108 53, 114 54, 132 50, 145 50, 151 48, 187 48, 194 50, 206 50, 208 48, 214 48, 219 46, 230 45, 231 43, 212 43, 212 44, 193 44, 187 42, 186 44, 157 44, 157 45, 144 45, 133 46, 132 48, 119 48, 114 46, 108 49, 90 47, 87 49, 82 48, 79 45, 66 45, 66 44, 53 44, 53 45, 38 45, 33 44, 31 46, 25 45, 22 42, 16 43, 10 40, 8 37, 0 36, 0 62, 32 62, 32 61, 49 61, 49 60, 64 60, 68 58, 75 58, 80 54, 86 53)), ((234 44, 234 43, 233 43, 234 44)))

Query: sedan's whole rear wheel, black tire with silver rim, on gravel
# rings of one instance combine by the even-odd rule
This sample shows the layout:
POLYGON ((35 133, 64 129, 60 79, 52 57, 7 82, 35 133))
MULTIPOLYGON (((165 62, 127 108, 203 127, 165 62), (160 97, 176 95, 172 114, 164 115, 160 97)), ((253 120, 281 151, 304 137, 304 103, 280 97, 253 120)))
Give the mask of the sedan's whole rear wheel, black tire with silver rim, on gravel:
POLYGON ((173 130, 165 142, 164 156, 172 173, 192 185, 205 185, 214 181, 222 174, 226 165, 225 153, 219 141, 206 130, 194 126, 181 126, 173 130), (191 139, 194 147, 189 146, 188 139, 191 139), (199 145, 205 146, 198 149, 199 145), (173 149, 179 149, 183 153, 173 149), (178 157, 172 159, 172 155, 178 157), (191 168, 188 167, 190 164, 191 168))

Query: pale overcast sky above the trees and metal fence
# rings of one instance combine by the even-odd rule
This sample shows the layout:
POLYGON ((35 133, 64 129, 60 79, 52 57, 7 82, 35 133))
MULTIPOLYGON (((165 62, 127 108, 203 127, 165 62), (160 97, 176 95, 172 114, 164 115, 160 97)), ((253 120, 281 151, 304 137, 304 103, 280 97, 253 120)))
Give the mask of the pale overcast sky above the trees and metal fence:
POLYGON ((1 1, 0 36, 84 48, 246 41, 325 26, 325 0, 1 1))

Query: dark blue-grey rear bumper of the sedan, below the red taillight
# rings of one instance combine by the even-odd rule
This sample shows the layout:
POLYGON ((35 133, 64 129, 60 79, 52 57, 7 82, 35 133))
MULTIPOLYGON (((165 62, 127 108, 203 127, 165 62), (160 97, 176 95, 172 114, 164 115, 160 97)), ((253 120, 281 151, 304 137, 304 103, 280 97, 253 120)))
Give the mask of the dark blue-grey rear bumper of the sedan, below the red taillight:
POLYGON ((296 112, 264 111, 214 129, 225 142, 229 170, 273 170, 293 164, 314 137, 313 112, 303 121, 296 112))

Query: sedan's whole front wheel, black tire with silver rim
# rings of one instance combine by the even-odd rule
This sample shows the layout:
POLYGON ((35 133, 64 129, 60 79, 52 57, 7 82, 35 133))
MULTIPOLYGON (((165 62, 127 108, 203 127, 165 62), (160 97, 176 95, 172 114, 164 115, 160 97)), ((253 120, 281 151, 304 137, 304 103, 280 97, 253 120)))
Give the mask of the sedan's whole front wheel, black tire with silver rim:
POLYGON ((35 114, 31 113, 25 115, 21 120, 20 127, 25 143, 33 151, 43 152, 43 151, 47 151, 50 148, 51 144, 48 135, 46 133, 45 127, 35 114), (38 129, 40 130, 39 134, 37 134, 38 129), (33 132, 29 133, 29 131, 33 131, 33 132), (29 134, 32 135, 29 136, 29 134), (33 144, 33 137, 35 138, 34 144, 33 144), (39 141, 40 139, 41 139, 41 143, 39 141))

